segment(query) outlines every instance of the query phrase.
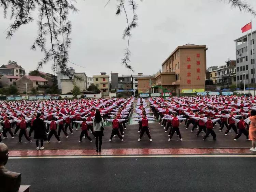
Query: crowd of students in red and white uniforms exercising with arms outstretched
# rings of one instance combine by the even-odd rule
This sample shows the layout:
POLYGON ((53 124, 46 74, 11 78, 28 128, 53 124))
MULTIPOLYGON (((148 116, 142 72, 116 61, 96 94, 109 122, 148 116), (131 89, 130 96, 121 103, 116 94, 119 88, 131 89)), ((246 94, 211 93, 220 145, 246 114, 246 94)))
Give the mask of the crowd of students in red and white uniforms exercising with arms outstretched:
MULTIPOLYGON (((92 142, 91 135, 96 140, 99 136, 95 133, 94 128, 94 118, 97 113, 103 119, 100 127, 103 128, 106 122, 112 123, 109 141, 111 142, 115 136, 124 141, 126 125, 131 113, 134 112, 136 113, 134 120, 139 122, 138 133, 140 136, 138 141, 141 141, 144 133, 146 133, 152 142, 148 121, 155 120, 159 121, 166 133, 168 132, 168 141, 171 141, 175 132, 183 141, 179 126, 185 121, 185 129, 191 128, 190 132, 192 133, 196 129, 196 136, 205 132, 204 140, 210 134, 213 136, 213 140, 216 140, 214 127, 217 124, 219 132, 222 132, 226 127, 225 135, 228 135, 232 129, 236 133, 233 138, 234 141, 237 141, 244 134, 247 140, 250 138, 253 141, 251 150, 256 151, 254 143, 256 140, 254 128, 256 130, 256 126, 253 125, 254 119, 250 118, 251 116, 254 117, 256 112, 255 102, 256 97, 244 96, 170 97, 166 100, 160 97, 135 100, 131 97, 128 99, 0 101, 0 117, 2 119, 3 139, 8 138, 6 133, 9 133, 13 139, 19 131, 19 143, 22 142, 23 136, 28 142, 32 142, 31 134, 37 129, 37 125, 34 124, 36 118, 42 119, 45 124, 45 134, 48 136, 44 140, 47 140, 47 143, 51 142, 53 135, 60 143, 61 132, 68 138, 73 134, 74 128, 76 130, 81 129, 79 142, 82 142, 82 138, 87 138, 92 142), (27 128, 30 128, 29 133, 26 131, 27 128)), ((102 135, 103 132, 101 137, 102 135)), ((43 148, 42 144, 41 148, 37 145, 38 150, 43 148)))

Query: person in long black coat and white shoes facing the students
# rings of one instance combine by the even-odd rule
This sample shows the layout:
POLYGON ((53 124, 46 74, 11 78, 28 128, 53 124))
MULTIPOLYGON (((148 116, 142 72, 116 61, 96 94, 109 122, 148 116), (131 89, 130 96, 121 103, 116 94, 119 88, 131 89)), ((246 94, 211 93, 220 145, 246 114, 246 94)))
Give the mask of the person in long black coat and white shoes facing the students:
POLYGON ((35 140, 35 144, 37 145, 37 150, 43 150, 44 147, 44 141, 47 140, 47 136, 46 136, 46 129, 45 129, 45 124, 44 121, 42 119, 40 119, 41 114, 38 113, 37 114, 37 118, 33 121, 33 128, 34 128, 34 139, 35 140), (39 148, 39 139, 41 142, 41 147, 39 148))

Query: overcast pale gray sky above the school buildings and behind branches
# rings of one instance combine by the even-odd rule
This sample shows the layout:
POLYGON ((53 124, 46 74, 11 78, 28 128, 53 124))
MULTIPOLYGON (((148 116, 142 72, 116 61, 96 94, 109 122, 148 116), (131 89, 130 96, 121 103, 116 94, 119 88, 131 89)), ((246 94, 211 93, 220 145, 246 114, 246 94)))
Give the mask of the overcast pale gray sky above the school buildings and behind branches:
MULTIPOLYGON (((120 65, 127 40, 122 39, 126 26, 124 14, 115 15, 116 1, 77 0, 78 13, 70 14, 72 22, 72 43, 69 63, 76 72, 87 76, 106 72, 120 75, 132 74, 120 65)), ((235 59, 234 39, 242 36, 241 28, 252 19, 256 30, 256 19, 249 13, 231 9, 230 5, 218 0, 137 0, 139 26, 132 30, 130 40, 133 74, 154 74, 161 69, 161 63, 179 45, 187 43, 207 45, 207 67, 225 64, 227 58, 235 59)), ((247 0, 255 9, 256 1, 247 0)), ((0 14, 3 15, 2 8, 0 14)), ((129 18, 132 12, 128 10, 129 18)), ((36 18, 35 18, 36 19, 36 18)), ((43 54, 30 50, 37 25, 21 27, 11 40, 5 39, 9 19, 0 17, 0 64, 15 60, 25 68, 26 73, 34 70, 43 54)), ((244 33, 246 34, 246 33, 244 33)), ((51 64, 41 71, 52 73, 51 64)))

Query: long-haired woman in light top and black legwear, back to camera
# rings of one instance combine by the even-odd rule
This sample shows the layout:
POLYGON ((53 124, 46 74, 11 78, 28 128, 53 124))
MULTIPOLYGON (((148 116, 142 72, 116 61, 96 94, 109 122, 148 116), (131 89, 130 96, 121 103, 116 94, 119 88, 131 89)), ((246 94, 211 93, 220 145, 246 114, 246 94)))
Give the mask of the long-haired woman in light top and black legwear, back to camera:
POLYGON ((95 118, 93 120, 93 130, 95 133, 95 144, 96 144, 96 151, 100 152, 101 151, 101 145, 102 145, 102 136, 103 134, 103 125, 104 121, 103 118, 100 115, 100 111, 96 110, 95 113, 95 118), (100 142, 100 145, 98 146, 98 142, 100 142))

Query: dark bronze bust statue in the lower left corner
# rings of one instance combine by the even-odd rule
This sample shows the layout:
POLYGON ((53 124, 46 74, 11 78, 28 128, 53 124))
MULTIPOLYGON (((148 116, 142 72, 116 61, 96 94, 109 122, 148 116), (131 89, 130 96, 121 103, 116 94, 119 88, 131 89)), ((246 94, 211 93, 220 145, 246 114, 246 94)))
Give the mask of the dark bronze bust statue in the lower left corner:
POLYGON ((9 158, 8 154, 8 147, 0 143, 0 191, 16 192, 20 187, 21 173, 10 172, 4 167, 9 158))

